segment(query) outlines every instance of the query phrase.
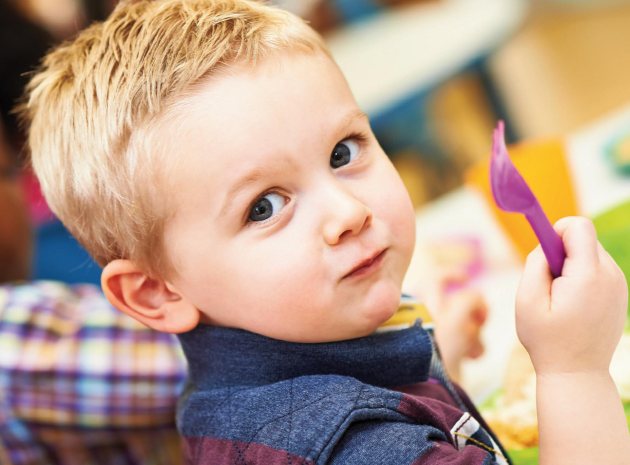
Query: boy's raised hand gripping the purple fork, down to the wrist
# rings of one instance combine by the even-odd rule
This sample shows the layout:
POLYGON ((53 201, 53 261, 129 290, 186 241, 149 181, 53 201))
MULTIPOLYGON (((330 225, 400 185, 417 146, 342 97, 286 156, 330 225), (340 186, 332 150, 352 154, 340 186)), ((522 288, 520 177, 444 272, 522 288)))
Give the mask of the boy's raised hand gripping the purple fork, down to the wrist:
POLYGON ((567 253, 552 279, 537 247, 527 258, 516 296, 516 328, 536 372, 608 372, 626 319, 623 273, 597 242, 585 218, 556 226, 567 253))

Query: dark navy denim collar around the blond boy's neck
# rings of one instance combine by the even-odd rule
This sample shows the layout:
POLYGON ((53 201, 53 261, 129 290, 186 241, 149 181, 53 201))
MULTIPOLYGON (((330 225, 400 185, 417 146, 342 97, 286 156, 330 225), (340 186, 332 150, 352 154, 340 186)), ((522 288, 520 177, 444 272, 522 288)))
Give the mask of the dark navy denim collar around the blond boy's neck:
POLYGON ((198 388, 260 386, 336 374, 381 387, 428 379, 432 342, 420 323, 359 339, 294 343, 232 328, 199 325, 179 335, 198 388))

